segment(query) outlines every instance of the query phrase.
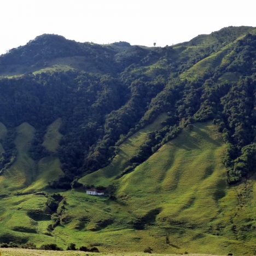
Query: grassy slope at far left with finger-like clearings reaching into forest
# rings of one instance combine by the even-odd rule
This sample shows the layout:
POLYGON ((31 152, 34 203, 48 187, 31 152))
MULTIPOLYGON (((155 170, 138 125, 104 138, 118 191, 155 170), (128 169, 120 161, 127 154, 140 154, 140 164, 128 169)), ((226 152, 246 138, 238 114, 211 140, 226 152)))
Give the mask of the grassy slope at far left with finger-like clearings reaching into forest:
MULTIPOLYGON (((60 159, 56 155, 62 136, 59 132, 60 125, 61 119, 57 119, 46 130, 43 146, 49 151, 49 156, 39 161, 34 161, 29 153, 36 131, 34 127, 28 123, 16 127, 15 146, 18 154, 14 164, 0 176, 0 194, 9 194, 11 191, 21 189, 22 192, 38 191, 45 188, 48 182, 63 175, 60 159)), ((1 124, 0 136, 4 137, 6 132, 6 127, 1 124)), ((0 144, 0 152, 1 150, 4 149, 0 144)))

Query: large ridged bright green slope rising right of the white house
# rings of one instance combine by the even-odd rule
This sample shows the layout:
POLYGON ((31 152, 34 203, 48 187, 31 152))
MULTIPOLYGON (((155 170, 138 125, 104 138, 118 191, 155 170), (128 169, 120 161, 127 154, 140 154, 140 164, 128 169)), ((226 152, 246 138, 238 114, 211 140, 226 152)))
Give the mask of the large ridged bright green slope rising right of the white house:
POLYGON ((224 150, 213 125, 196 124, 192 131, 185 129, 122 178, 118 194, 132 197, 133 203, 145 210, 159 207, 161 202, 159 219, 179 216, 187 221, 205 222, 203 216, 216 216, 216 202, 225 195, 224 150))

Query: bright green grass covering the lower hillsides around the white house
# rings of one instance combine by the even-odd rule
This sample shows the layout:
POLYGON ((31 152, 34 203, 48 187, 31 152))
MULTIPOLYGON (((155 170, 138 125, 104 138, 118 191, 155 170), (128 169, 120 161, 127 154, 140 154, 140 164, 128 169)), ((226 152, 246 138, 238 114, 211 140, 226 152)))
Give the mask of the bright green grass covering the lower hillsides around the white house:
MULTIPOLYGON (((222 164, 225 144, 211 123, 195 124, 191 131, 184 129, 133 172, 115 179, 145 141, 147 132, 159 129, 165 117, 122 143, 109 166, 80 179, 84 184, 113 183, 116 200, 86 195, 83 189, 54 191, 61 193, 65 203, 59 206, 64 209, 59 215, 60 225, 49 231, 53 220, 46 213, 46 197, 32 192, 42 190, 56 177, 54 170, 59 170, 54 151, 61 136, 60 120, 55 121, 44 141, 53 155, 37 163, 41 171, 21 190, 30 194, 7 194, 1 199, 0 242, 30 241, 38 247, 56 243, 63 249, 74 242, 77 247, 91 245, 104 253, 122 255, 141 255, 137 252, 148 246, 155 253, 252 255, 256 250, 255 177, 233 187, 226 184, 222 164)), ((24 152, 15 163, 21 168, 15 170, 23 174, 22 166, 31 161, 24 147, 28 147, 34 129, 25 123, 18 131, 15 143, 24 152)))

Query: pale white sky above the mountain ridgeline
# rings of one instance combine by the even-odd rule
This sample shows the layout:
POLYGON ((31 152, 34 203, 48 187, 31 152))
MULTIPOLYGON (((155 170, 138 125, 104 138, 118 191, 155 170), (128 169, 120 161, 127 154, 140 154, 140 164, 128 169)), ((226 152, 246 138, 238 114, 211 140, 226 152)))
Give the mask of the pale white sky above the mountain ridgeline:
POLYGON ((43 33, 79 42, 171 45, 256 26, 256 0, 0 0, 0 54, 43 33))

